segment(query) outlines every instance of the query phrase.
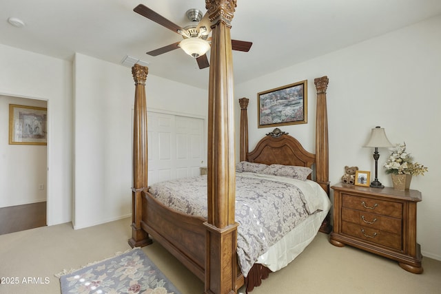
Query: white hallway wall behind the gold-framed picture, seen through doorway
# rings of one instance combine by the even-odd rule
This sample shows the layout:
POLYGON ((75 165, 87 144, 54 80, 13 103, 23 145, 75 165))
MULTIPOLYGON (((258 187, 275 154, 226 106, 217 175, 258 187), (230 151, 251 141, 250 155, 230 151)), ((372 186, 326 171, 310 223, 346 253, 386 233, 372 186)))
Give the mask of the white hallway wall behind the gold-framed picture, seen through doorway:
POLYGON ((0 95, 0 207, 46 200, 46 145, 9 145, 9 105, 46 107, 43 100, 0 95), (40 190, 39 185, 44 189, 40 190))

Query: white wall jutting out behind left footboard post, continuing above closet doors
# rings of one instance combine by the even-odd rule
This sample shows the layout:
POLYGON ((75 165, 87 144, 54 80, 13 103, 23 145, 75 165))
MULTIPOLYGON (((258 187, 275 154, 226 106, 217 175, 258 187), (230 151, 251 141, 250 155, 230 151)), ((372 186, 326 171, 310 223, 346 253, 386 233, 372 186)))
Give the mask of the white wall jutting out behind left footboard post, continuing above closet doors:
MULTIPOLYGON (((135 86, 130 68, 83 54, 76 54, 74 72, 73 222, 78 229, 132 213, 135 86)), ((148 109, 207 114, 206 91, 149 74, 145 92, 148 109)))

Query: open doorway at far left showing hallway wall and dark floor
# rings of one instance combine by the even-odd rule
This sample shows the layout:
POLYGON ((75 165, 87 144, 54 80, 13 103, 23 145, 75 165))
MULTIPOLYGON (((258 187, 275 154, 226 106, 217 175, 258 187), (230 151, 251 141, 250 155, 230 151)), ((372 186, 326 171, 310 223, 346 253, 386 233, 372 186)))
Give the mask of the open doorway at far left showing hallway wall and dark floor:
POLYGON ((0 234, 47 224, 47 145, 10 144, 10 105, 48 101, 0 95, 0 234))

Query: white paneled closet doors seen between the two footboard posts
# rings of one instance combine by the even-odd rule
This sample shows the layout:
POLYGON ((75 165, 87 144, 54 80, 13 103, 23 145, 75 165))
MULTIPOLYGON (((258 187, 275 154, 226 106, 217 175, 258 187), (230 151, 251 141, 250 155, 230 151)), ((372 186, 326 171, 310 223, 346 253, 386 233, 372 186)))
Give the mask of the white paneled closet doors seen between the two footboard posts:
POLYGON ((201 118, 147 112, 149 185, 197 176, 204 160, 201 118))

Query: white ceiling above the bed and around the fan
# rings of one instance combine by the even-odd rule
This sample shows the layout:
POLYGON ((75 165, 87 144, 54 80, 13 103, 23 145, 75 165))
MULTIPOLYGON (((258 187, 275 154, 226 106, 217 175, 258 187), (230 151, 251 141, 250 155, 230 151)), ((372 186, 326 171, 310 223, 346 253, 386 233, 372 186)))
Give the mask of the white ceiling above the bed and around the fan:
MULTIPOLYGON (((182 26, 188 22, 189 8, 205 13, 203 0, 0 0, 0 43, 66 60, 79 52, 121 64, 130 55, 149 63, 150 74, 207 89, 209 69, 199 70, 182 50, 156 57, 145 54, 181 36, 135 13, 139 3, 182 26), (21 19, 25 27, 13 27, 9 17, 21 19)), ((441 0, 238 0, 232 39, 253 45, 249 52, 234 51, 234 81, 438 14, 441 0)))

